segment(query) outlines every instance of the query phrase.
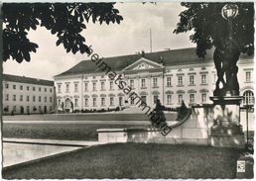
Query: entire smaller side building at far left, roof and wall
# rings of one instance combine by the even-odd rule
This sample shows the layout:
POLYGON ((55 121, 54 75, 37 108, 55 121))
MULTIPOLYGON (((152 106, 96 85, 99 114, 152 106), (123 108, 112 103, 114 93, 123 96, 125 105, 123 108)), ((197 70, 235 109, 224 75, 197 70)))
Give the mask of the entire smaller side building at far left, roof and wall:
POLYGON ((49 113, 56 109, 55 83, 3 74, 4 114, 49 113))

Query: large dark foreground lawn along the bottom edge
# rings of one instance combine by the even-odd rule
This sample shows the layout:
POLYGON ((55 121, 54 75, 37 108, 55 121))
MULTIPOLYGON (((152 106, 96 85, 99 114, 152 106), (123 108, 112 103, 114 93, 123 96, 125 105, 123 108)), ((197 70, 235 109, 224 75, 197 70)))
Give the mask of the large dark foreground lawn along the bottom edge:
POLYGON ((4 169, 5 179, 235 178, 242 150, 196 145, 113 143, 4 169))

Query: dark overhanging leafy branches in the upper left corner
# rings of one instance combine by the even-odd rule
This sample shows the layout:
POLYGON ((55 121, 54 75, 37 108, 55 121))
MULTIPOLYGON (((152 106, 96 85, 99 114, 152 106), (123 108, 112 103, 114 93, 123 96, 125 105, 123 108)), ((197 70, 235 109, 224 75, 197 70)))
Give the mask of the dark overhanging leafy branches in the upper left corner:
POLYGON ((18 62, 31 60, 30 53, 38 45, 28 39, 30 30, 45 27, 58 37, 56 45, 64 45, 66 52, 89 52, 81 36, 86 23, 119 24, 123 18, 114 8, 115 3, 4 3, 2 6, 3 59, 18 62))

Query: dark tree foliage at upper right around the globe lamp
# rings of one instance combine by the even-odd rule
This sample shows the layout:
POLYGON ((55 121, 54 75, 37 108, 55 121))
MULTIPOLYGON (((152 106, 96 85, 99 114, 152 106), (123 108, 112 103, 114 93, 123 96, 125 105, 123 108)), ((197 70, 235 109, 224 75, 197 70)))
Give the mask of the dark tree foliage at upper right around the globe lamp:
MULTIPOLYGON (((228 21, 221 16, 226 3, 181 3, 187 9, 180 14, 180 22, 174 33, 193 31, 190 40, 196 44, 196 54, 203 57, 206 49, 224 44, 228 36, 228 21)), ((232 20, 232 37, 237 50, 243 53, 254 52, 254 5, 235 3, 239 12, 232 20)))

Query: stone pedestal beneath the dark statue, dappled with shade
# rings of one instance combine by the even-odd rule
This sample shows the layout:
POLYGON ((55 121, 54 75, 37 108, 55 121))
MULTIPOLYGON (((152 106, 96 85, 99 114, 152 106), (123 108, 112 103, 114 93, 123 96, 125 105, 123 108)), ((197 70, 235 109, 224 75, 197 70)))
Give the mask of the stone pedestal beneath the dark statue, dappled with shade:
POLYGON ((245 147, 245 138, 240 125, 240 96, 210 97, 213 101, 213 126, 210 129, 210 144, 218 147, 245 147))

